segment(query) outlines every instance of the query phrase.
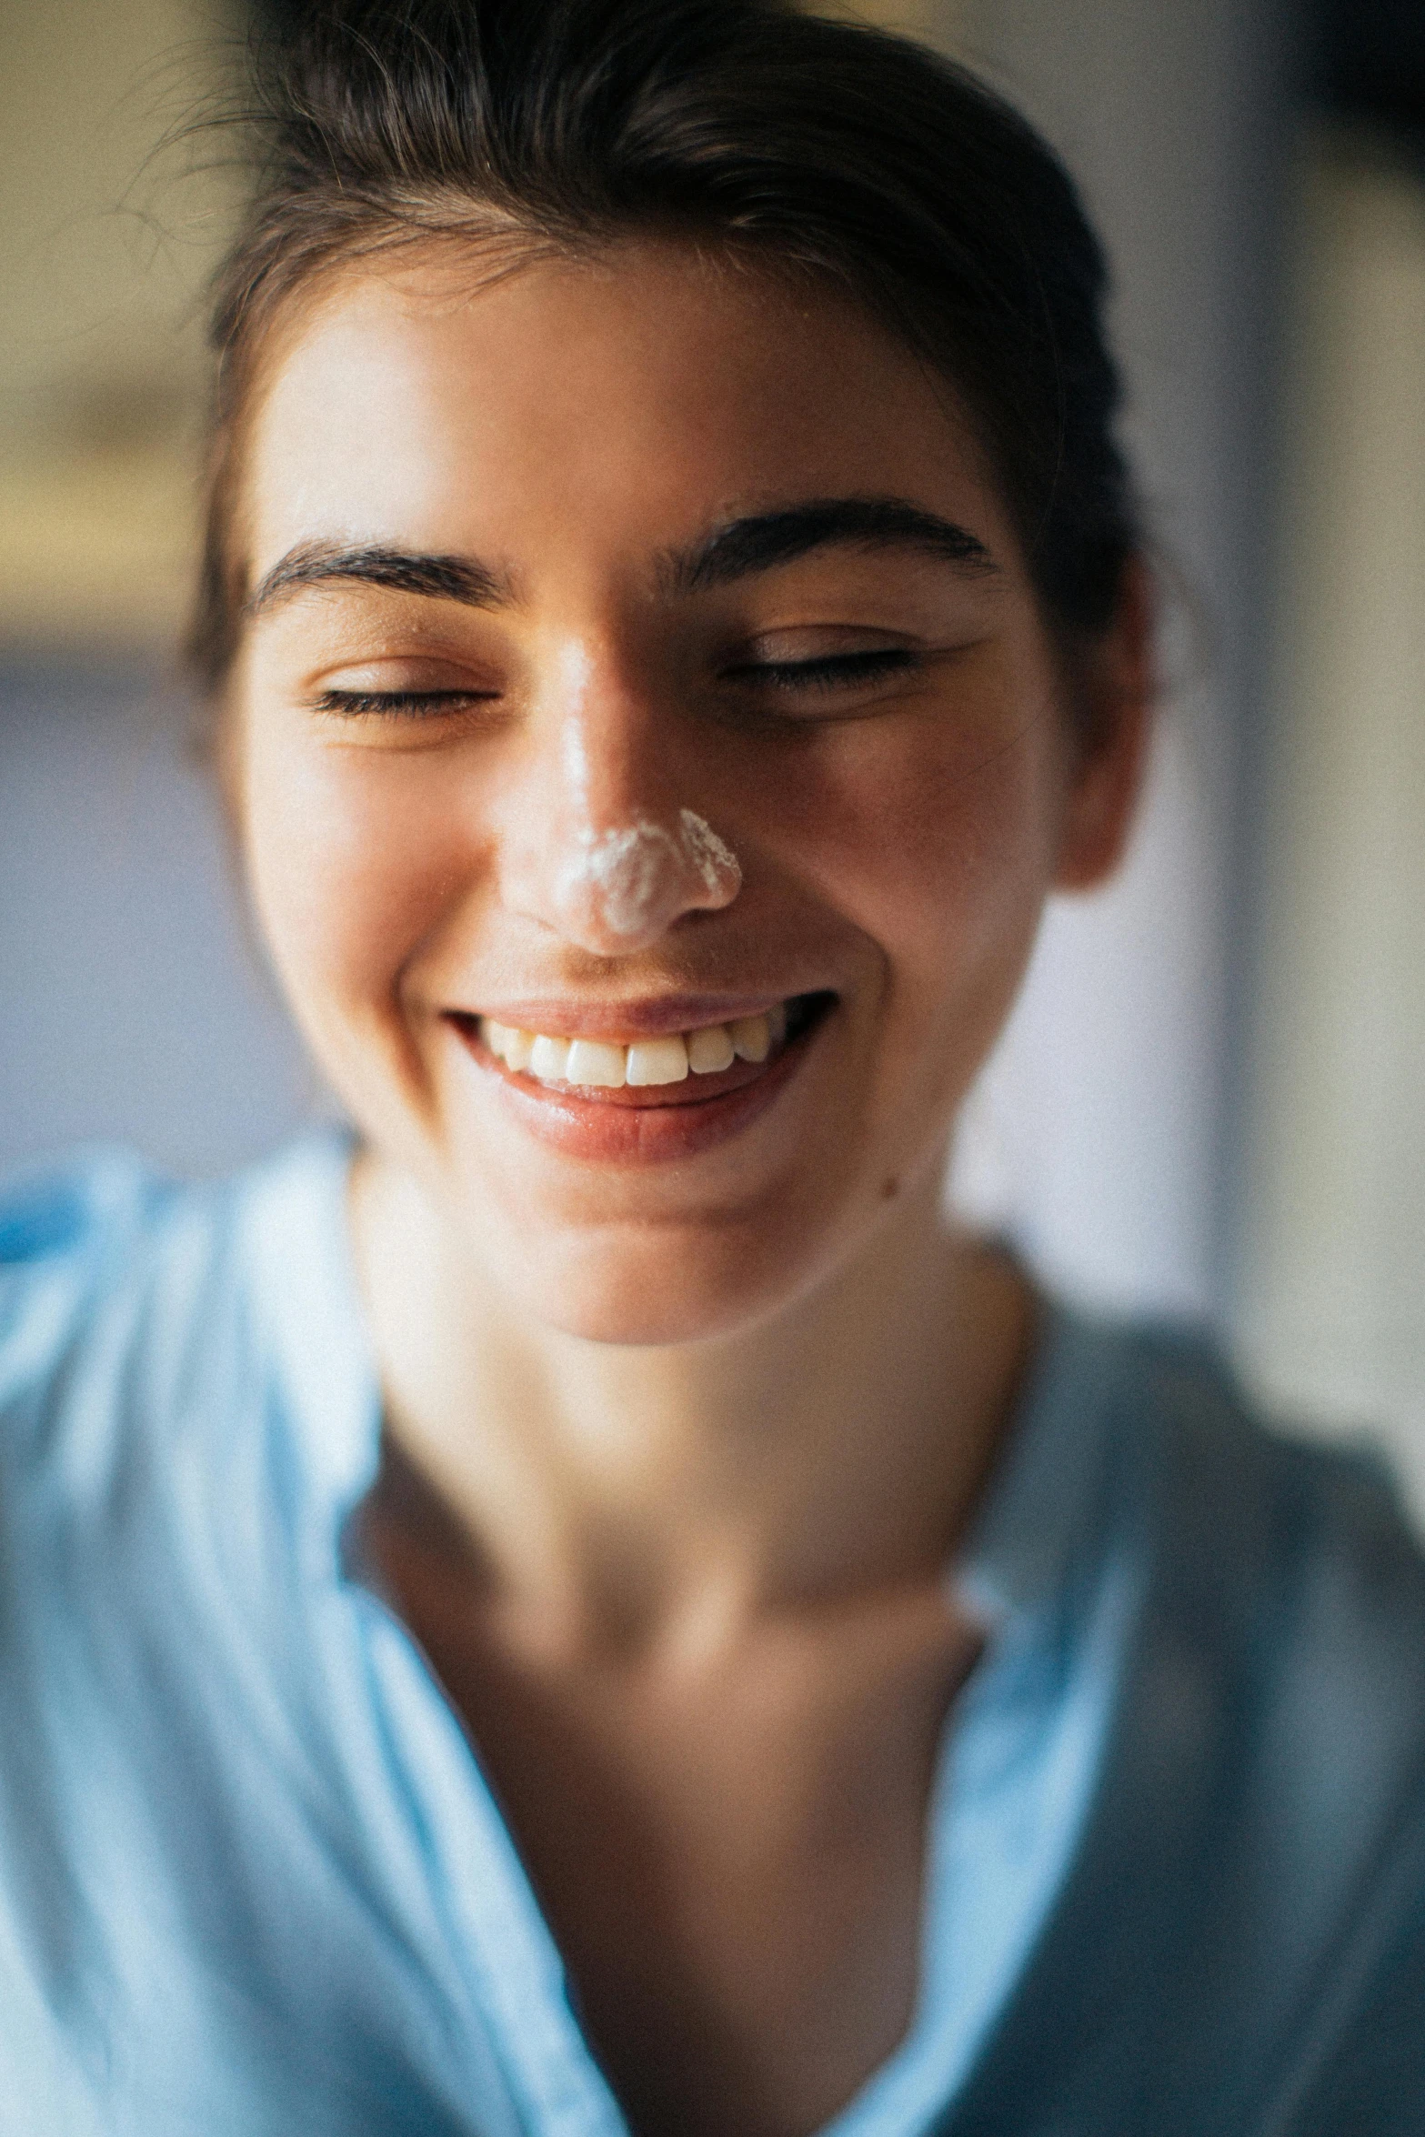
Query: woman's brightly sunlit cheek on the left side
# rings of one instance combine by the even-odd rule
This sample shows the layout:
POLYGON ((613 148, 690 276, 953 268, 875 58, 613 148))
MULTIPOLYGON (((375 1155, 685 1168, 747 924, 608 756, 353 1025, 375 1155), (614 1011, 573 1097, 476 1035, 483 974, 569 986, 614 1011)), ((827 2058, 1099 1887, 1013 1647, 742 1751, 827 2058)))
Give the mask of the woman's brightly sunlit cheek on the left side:
POLYGON ((459 880, 459 825, 434 761, 282 742, 261 720, 244 752, 252 902, 308 1030, 395 1015, 404 966, 459 880))

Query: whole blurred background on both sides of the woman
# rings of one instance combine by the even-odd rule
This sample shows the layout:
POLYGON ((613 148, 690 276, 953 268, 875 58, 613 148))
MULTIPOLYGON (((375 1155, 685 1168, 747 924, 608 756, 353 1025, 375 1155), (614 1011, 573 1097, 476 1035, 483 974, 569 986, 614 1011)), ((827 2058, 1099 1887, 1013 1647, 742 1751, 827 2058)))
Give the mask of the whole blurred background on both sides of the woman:
MULTIPOLYGON (((861 13, 1079 175, 1175 590, 1130 863, 1051 910, 955 1195, 1075 1299, 1207 1316, 1425 1515, 1425 6, 861 13)), ((246 28, 0 0, 0 1167, 201 1175, 327 1111, 175 660, 237 173, 173 137, 246 28)))

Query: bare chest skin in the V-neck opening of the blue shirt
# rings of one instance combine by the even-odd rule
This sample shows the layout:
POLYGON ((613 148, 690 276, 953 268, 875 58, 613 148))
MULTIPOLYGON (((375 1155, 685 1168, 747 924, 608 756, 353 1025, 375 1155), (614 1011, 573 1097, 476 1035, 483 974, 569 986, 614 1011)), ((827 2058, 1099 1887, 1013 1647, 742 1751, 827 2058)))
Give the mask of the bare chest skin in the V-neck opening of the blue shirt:
POLYGON ((976 1633, 914 1581, 701 1658, 551 1656, 432 1541, 410 1481, 378 1487, 367 1560, 479 1750, 632 2128, 810 2137, 910 2026, 976 1633))

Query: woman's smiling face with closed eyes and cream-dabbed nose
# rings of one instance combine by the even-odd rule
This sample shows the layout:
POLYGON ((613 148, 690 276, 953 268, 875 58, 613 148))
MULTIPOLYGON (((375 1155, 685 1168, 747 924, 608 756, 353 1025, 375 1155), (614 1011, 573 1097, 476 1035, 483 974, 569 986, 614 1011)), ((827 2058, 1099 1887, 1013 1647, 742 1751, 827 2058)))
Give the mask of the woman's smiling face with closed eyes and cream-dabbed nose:
POLYGON ((447 252, 286 329, 244 470, 252 895, 376 1163, 607 1340, 865 1250, 1130 786, 1126 742, 1072 748, 946 389, 675 246, 489 286, 447 252), (555 1045, 511 1066, 491 1019, 555 1045))

